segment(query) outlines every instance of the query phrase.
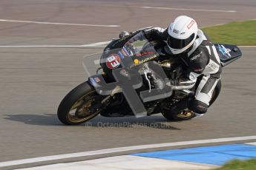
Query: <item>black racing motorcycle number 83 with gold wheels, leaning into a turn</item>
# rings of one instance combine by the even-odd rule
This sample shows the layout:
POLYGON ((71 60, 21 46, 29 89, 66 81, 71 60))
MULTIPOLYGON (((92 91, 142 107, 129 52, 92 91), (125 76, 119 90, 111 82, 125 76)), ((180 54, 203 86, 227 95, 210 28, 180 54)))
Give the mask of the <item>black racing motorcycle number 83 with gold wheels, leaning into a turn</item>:
MULTIPOLYGON (((183 62, 180 61, 180 58, 165 55, 163 52, 165 46, 163 41, 148 41, 142 30, 123 38, 113 39, 105 47, 100 60, 98 60, 99 69, 96 74, 89 76, 88 81, 76 86, 63 98, 57 112, 59 120, 66 125, 77 125, 91 120, 96 115, 125 117, 139 116, 140 114, 149 116, 157 113, 162 113, 168 120, 194 118, 194 112, 189 109, 185 109, 179 114, 173 114, 170 112, 170 108, 183 98, 193 94, 195 88, 172 90, 168 83, 162 84, 162 86, 156 83, 159 80, 156 75, 160 73, 162 75, 165 73, 161 77, 162 79, 163 77, 165 79, 178 78, 182 75, 177 70, 182 70, 183 62), (154 67, 150 67, 151 65, 154 67), (158 71, 154 70, 155 68, 158 71), (130 84, 132 80, 135 85, 130 84), (119 81, 119 84, 116 84, 116 81, 119 81), (125 83, 120 83, 121 81, 125 83), (126 93, 122 90, 126 88, 122 86, 124 84, 128 88, 126 93), (133 86, 133 88, 129 86, 133 86), (157 95, 154 90, 162 90, 162 93, 159 92, 162 95, 157 95), (148 95, 155 94, 146 100, 142 98, 142 92, 147 92, 148 95), (131 96, 130 93, 135 97, 128 98, 128 95, 131 96), (137 106, 132 106, 131 103, 136 100, 137 106)), ((223 67, 242 55, 240 49, 235 45, 214 44, 214 46, 223 67)), ((94 57, 98 58, 99 56, 94 57)), ((84 58, 83 65, 86 70, 95 68, 90 61, 87 57, 84 58)), ((96 61, 93 61, 94 64, 96 61)), ((221 81, 214 89, 210 105, 220 94, 220 89, 221 81)))

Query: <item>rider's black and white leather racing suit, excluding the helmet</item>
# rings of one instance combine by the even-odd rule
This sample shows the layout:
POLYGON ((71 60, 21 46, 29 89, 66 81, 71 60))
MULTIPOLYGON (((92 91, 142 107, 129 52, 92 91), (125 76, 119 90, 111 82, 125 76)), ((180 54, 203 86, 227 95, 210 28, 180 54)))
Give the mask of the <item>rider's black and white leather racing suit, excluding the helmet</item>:
MULTIPOLYGON (((149 40, 162 40, 165 42, 167 40, 168 29, 148 27, 142 30, 145 33, 145 37, 149 40)), ((166 53, 172 55, 167 44, 164 49, 166 53)), ((211 101, 212 92, 220 80, 222 71, 217 50, 207 40, 203 31, 198 30, 194 45, 177 57, 182 58, 187 67, 183 72, 183 78, 171 81, 174 89, 191 89, 196 84, 197 78, 200 77, 201 79, 199 80, 194 96, 178 103, 176 105, 177 107, 171 110, 171 112, 180 113, 183 109, 188 108, 198 114, 206 113, 209 107, 209 101, 211 101)))

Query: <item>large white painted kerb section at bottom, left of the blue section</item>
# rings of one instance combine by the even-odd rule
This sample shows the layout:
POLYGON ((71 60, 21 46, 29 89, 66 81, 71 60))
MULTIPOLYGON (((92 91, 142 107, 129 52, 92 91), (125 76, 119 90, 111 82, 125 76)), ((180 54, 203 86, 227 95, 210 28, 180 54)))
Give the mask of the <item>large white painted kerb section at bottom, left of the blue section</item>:
POLYGON ((152 157, 138 157, 132 155, 122 155, 116 157, 105 157, 95 160, 85 160, 74 163, 58 163, 55 165, 38 166, 19 170, 69 170, 69 169, 93 169, 93 170, 153 170, 153 169, 211 169, 219 166, 205 165, 199 163, 186 163, 175 160, 162 160, 152 157))

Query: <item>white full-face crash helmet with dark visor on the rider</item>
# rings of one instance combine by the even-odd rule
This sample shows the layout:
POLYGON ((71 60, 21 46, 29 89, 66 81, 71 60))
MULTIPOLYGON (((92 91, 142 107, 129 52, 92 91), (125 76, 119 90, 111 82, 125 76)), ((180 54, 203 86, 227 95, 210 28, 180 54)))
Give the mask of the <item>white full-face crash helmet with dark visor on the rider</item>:
POLYGON ((188 16, 178 16, 168 27, 167 44, 173 54, 188 50, 197 38, 197 22, 188 16))

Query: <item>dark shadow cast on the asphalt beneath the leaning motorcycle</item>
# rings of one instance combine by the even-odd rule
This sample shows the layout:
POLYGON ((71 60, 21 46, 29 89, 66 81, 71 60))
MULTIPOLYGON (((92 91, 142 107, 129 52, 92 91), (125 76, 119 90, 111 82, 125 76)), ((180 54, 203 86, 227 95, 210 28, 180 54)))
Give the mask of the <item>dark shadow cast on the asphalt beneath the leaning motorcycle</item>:
MULTIPOLYGON (((4 119, 22 122, 25 124, 36 126, 64 126, 57 118, 56 114, 19 114, 19 115, 4 115, 4 119)), ((82 123, 79 126, 91 127, 91 128, 154 128, 154 129, 170 129, 180 130, 174 126, 171 126, 171 121, 163 118, 162 115, 152 115, 142 118, 119 117, 119 118, 106 118, 97 116, 86 123, 82 123)))

